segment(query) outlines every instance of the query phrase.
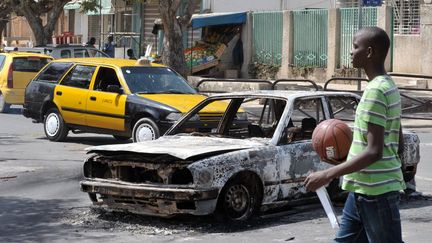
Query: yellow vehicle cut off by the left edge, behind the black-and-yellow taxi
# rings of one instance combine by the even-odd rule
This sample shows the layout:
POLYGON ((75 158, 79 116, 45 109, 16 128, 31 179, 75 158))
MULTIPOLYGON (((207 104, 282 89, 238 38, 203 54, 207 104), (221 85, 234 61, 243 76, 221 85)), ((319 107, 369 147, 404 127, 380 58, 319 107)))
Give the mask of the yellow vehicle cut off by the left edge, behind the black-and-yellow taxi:
POLYGON ((0 113, 24 103, 26 85, 52 59, 37 53, 0 53, 0 113))

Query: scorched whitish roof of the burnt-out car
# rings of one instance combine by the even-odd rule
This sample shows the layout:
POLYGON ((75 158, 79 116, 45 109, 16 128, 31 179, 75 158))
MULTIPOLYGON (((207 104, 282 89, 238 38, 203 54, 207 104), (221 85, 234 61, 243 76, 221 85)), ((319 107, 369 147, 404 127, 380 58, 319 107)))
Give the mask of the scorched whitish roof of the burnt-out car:
POLYGON ((252 91, 240 91, 233 93, 215 94, 209 98, 233 98, 236 96, 262 96, 262 97, 274 97, 283 99, 295 99, 303 97, 313 96, 329 96, 329 95, 342 95, 342 96, 356 96, 359 95, 348 92, 348 91, 304 91, 304 90, 252 90, 252 91))

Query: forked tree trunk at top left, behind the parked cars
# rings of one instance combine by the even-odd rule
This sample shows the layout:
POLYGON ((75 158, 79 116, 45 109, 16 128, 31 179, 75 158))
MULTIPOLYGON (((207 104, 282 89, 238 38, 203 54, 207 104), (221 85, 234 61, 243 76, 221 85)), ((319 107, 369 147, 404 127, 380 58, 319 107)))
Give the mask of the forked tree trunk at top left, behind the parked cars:
POLYGON ((52 43, 55 24, 70 0, 3 0, 19 16, 24 16, 35 36, 36 45, 52 43), (42 17, 47 14, 46 24, 42 17))

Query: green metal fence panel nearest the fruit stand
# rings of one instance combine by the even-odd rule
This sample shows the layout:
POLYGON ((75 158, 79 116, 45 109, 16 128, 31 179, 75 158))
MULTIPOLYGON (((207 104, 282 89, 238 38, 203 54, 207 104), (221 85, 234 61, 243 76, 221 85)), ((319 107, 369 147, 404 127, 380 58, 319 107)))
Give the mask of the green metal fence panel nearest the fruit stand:
POLYGON ((282 11, 253 13, 253 61, 282 63, 282 11))

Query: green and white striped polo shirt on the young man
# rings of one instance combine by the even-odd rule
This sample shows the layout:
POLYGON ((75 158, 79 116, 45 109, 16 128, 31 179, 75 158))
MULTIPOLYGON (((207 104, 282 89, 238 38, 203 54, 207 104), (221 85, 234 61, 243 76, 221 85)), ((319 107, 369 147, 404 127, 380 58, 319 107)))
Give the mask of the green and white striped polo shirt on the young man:
POLYGON ((400 119, 401 98, 396 84, 387 75, 377 76, 368 83, 357 106, 353 141, 347 159, 366 149, 369 122, 385 128, 383 156, 368 167, 345 175, 342 189, 380 195, 405 188, 401 161, 397 155, 400 119))

